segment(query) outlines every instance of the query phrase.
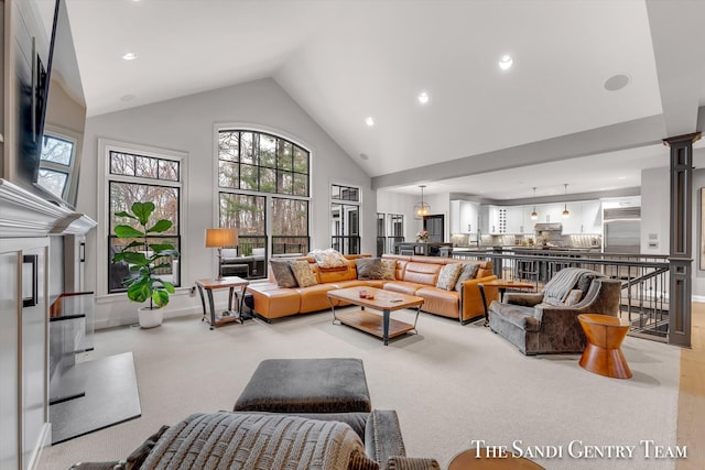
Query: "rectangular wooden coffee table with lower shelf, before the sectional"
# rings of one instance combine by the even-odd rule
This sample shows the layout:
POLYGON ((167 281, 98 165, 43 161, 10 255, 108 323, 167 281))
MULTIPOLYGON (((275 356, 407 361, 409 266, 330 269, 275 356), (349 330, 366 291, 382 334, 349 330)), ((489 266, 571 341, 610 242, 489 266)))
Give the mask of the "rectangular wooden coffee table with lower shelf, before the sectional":
POLYGON ((337 320, 343 325, 375 335, 381 338, 384 341, 384 346, 387 346, 389 338, 416 329, 416 321, 419 320, 419 311, 421 310, 423 298, 375 287, 348 287, 329 291, 328 302, 330 302, 334 323, 337 320), (366 291, 368 295, 371 294, 375 298, 360 297, 360 291, 366 291), (358 305, 360 309, 346 311, 345 314, 336 314, 334 300, 343 300, 358 305), (413 307, 416 308, 416 319, 413 325, 390 318, 390 314, 394 310, 413 307), (373 314, 365 308, 381 311, 382 315, 373 314))

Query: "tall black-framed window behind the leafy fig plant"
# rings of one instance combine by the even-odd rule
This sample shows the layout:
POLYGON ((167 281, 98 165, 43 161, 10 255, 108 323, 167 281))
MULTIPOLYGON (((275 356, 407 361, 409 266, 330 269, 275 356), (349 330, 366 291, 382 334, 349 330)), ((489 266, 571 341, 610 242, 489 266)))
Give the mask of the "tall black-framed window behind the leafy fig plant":
MULTIPOLYGON (((171 243, 181 251, 181 159, 160 155, 141 155, 110 150, 108 152, 108 292, 122 292, 122 281, 129 273, 129 265, 113 263, 112 255, 122 251, 132 240, 118 239, 113 229, 118 225, 137 223, 116 214, 129 210, 133 203, 152 201, 154 220, 167 219, 172 228, 151 238, 154 243, 171 243)), ((140 228, 135 226, 135 228, 140 228)), ((138 249, 138 248, 133 248, 138 249)), ((181 264, 177 260, 162 267, 158 274, 175 286, 181 284, 181 264)))

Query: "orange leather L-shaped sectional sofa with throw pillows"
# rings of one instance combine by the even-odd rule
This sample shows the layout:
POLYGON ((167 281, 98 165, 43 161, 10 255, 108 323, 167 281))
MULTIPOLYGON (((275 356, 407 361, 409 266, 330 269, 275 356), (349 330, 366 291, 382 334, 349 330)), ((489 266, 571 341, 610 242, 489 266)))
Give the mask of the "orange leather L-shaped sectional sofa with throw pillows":
MULTIPOLYGON (((384 254, 382 259, 397 262, 395 280, 358 280, 355 260, 369 254, 346 255, 348 265, 321 269, 313 258, 297 258, 308 262, 318 284, 308 287, 280 287, 270 270, 267 283, 252 283, 247 292, 252 294, 256 314, 271 320, 296 314, 306 314, 330 308, 328 291, 368 286, 424 298, 422 311, 457 318, 462 324, 485 314, 478 283, 496 280, 490 261, 456 260, 437 256, 404 256, 384 254), (463 283, 462 291, 445 291, 436 287, 441 269, 448 263, 476 263, 477 276, 463 283)), ((496 289, 488 289, 487 303, 498 299, 496 289)), ((336 304, 337 306, 337 304, 336 304)))

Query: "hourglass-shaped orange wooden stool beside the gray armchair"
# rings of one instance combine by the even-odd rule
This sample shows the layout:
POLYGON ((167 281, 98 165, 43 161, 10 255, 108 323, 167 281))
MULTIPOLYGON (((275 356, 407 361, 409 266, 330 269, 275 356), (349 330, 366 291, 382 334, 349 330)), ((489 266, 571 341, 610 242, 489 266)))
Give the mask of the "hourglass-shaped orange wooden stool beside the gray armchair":
POLYGON ((587 337, 581 367, 612 379, 631 379, 631 370, 620 348, 629 331, 629 324, 617 317, 598 314, 582 314, 577 319, 587 337))

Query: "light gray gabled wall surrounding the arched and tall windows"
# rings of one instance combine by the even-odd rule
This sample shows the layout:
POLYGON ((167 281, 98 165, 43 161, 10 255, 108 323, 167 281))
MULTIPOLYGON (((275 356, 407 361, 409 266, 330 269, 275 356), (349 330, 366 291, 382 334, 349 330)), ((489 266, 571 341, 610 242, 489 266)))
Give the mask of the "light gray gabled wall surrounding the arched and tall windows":
MULTIPOLYGON (((137 320, 135 304, 124 295, 106 296, 105 285, 95 285, 99 270, 107 270, 106 253, 97 252, 97 237, 105 232, 107 220, 98 220, 97 195, 98 139, 109 139, 188 154, 186 162, 185 223, 182 241, 182 286, 165 316, 197 311, 198 298, 187 291, 194 281, 212 277, 215 256, 204 248, 204 230, 215 227, 214 157, 215 125, 248 124, 306 145, 312 151, 311 247, 330 245, 329 184, 332 182, 362 188, 362 252, 375 252, 377 195, 369 176, 325 131, 272 79, 261 79, 219 90, 148 105, 124 111, 91 117, 86 122, 84 160, 77 211, 98 221, 98 230, 87 239, 87 289, 98 294, 97 327, 137 320)), ((105 272, 105 271, 104 271, 105 272)), ((224 297, 225 298, 225 297, 224 297)))

